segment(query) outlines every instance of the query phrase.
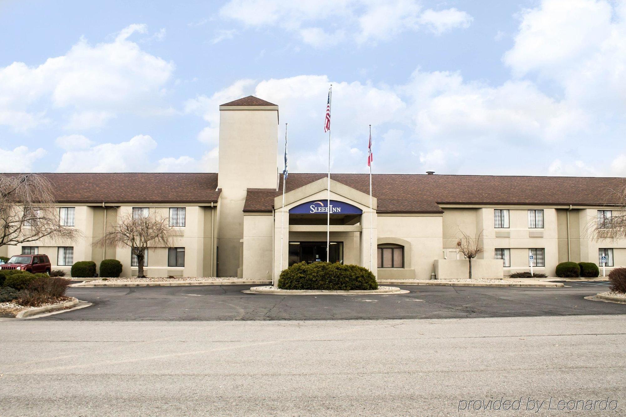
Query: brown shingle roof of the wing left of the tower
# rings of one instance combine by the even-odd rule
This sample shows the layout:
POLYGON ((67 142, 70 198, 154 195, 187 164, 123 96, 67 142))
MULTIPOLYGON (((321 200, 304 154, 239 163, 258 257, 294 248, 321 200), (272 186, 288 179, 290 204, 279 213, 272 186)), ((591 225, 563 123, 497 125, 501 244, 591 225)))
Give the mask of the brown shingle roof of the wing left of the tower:
MULTIPOLYGON (((15 175, 15 174, 3 174, 15 175)), ((42 173, 69 202, 217 202, 217 173, 42 173)))

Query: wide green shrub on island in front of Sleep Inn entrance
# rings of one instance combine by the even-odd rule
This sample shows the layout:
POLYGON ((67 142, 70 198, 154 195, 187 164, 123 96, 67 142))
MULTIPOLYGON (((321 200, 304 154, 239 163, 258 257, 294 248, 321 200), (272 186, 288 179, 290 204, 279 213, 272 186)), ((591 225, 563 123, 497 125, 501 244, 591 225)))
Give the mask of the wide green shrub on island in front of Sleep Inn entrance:
POLYGON ((358 265, 315 262, 291 265, 280 272, 280 289, 292 290, 374 290, 376 277, 367 268, 358 265))

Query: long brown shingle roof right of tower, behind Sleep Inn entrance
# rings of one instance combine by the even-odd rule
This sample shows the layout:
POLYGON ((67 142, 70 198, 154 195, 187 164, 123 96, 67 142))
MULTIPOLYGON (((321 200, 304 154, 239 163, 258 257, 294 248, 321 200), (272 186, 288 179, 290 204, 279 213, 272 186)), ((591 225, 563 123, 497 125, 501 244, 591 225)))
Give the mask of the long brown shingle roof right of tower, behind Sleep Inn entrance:
MULTIPOLYGON (((290 173, 287 192, 326 177, 325 173, 290 173)), ((331 178, 369 194, 369 175, 331 174, 331 178)), ((437 213, 439 203, 603 205, 623 203, 608 189, 626 186, 626 178, 513 177, 493 175, 374 174, 372 195, 378 212, 437 213)), ((248 190, 244 211, 271 211, 276 190, 248 190)))

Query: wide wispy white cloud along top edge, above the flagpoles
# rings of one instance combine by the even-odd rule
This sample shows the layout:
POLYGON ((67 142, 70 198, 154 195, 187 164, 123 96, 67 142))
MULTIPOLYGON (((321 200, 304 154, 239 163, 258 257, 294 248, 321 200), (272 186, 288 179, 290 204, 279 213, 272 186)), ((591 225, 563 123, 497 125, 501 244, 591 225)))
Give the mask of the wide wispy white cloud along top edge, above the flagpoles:
POLYGON ((416 0, 231 0, 220 9, 220 16, 251 28, 278 26, 299 34, 304 43, 316 48, 346 39, 357 43, 388 41, 422 27, 442 34, 467 28, 472 20, 454 8, 422 11, 416 0))

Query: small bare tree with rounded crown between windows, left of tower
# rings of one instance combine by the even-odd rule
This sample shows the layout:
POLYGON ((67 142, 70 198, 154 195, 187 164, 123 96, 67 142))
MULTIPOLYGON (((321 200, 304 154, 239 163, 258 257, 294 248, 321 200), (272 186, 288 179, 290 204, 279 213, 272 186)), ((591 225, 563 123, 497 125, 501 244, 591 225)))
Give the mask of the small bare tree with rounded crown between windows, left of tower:
POLYGON ((156 213, 149 215, 121 215, 113 230, 106 232, 100 239, 93 242, 94 246, 130 247, 131 253, 137 257, 138 274, 143 274, 145 253, 148 247, 170 247, 172 230, 167 217, 156 213))

